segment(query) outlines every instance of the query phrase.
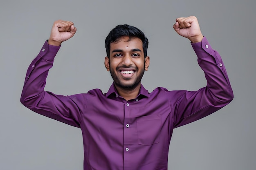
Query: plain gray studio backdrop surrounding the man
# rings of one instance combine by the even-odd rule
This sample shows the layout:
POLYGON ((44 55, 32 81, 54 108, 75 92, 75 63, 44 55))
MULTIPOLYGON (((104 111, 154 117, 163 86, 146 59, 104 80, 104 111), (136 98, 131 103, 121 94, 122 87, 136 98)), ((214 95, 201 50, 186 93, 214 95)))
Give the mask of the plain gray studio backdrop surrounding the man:
POLYGON ((175 18, 197 16, 201 31, 225 63, 234 100, 217 113, 177 128, 169 170, 254 170, 256 167, 255 0, 9 0, 0 2, 0 169, 82 170, 81 130, 38 115, 20 104, 25 73, 54 20, 75 23, 45 90, 56 94, 107 92, 104 40, 117 24, 131 24, 149 39, 151 92, 197 90, 206 85, 189 40, 175 33, 175 18))

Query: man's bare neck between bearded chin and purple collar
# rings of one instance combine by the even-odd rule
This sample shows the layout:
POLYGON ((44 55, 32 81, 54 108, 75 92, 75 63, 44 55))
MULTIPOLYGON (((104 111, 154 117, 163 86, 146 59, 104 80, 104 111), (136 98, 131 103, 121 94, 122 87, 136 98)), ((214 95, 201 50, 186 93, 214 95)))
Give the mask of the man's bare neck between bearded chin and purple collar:
POLYGON ((128 101, 130 99, 135 99, 137 97, 137 95, 139 94, 141 84, 139 83, 135 88, 122 88, 116 85, 115 87, 117 89, 117 93, 120 96, 124 97, 126 101, 128 101))

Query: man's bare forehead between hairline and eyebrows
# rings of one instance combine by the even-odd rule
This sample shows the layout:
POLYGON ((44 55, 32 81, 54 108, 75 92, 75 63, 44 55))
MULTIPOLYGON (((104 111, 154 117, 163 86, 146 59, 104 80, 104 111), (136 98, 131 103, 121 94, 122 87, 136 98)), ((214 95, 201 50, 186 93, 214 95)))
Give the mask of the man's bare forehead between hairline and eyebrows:
POLYGON ((143 44, 141 39, 137 37, 123 36, 115 42, 110 43, 110 53, 115 49, 141 49, 143 50, 143 44))

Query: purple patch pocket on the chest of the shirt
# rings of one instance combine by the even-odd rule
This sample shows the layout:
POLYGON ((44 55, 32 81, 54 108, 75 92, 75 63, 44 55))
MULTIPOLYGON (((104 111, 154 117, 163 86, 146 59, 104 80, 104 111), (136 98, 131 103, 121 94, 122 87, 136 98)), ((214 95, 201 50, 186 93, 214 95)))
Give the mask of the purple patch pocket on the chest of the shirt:
POLYGON ((159 143, 160 131, 160 115, 149 115, 137 118, 137 132, 139 145, 153 145, 159 143))

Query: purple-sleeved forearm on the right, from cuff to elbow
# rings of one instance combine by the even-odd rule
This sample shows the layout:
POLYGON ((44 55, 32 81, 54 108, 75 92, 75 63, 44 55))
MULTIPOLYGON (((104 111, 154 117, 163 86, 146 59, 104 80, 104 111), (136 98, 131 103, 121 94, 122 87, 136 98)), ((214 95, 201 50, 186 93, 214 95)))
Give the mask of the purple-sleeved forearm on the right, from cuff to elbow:
POLYGON ((213 105, 226 105, 233 99, 227 71, 219 53, 213 50, 206 38, 192 44, 198 56, 198 64, 207 79, 206 95, 213 105))

